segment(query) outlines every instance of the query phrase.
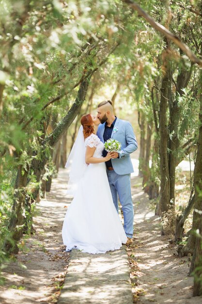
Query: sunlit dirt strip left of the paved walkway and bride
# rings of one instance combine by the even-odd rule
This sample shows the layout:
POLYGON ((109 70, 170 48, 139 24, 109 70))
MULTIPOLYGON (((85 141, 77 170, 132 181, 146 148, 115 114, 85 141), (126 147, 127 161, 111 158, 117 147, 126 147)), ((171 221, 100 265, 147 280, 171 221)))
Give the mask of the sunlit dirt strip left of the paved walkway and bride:
POLYGON ((5 285, 0 286, 1 304, 56 303, 67 269, 69 253, 63 253, 62 222, 68 206, 64 198, 66 171, 53 180, 47 198, 37 204, 36 233, 25 242, 16 261, 4 270, 5 285))

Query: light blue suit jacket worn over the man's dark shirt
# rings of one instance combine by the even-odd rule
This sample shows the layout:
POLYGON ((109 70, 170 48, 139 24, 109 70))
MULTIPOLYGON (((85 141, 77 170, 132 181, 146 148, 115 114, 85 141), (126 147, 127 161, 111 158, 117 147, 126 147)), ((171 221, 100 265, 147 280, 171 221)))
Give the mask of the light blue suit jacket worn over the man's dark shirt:
MULTIPOLYGON (((97 136, 103 143, 104 131, 105 123, 99 124, 97 136)), ((119 158, 111 159, 114 171, 120 175, 134 172, 130 153, 138 149, 138 143, 130 122, 117 118, 111 133, 111 138, 118 140, 122 145, 121 152, 119 152, 119 158)))

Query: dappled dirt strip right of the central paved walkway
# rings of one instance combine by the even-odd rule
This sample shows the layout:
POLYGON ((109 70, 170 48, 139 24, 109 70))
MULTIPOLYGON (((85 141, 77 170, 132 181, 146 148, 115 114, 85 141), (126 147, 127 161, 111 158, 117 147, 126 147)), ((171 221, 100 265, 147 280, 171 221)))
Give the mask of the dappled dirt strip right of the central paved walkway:
POLYGON ((160 222, 151 203, 132 179, 135 210, 134 246, 128 248, 134 303, 201 304, 202 297, 192 297, 193 277, 188 277, 187 257, 175 255, 176 247, 160 236, 160 222))

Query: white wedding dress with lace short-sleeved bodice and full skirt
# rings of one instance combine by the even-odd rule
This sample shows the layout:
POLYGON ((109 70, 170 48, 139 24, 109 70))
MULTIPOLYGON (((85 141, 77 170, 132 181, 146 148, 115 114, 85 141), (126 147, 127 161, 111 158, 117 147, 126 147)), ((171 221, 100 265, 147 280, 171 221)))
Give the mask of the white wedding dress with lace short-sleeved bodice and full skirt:
MULTIPOLYGON (((104 144, 97 135, 85 139, 85 147, 96 147, 93 157, 102 157, 104 144)), ((73 248, 85 253, 106 253, 126 243, 122 222, 114 206, 105 163, 90 164, 79 181, 67 209, 62 239, 66 251, 73 248)))

